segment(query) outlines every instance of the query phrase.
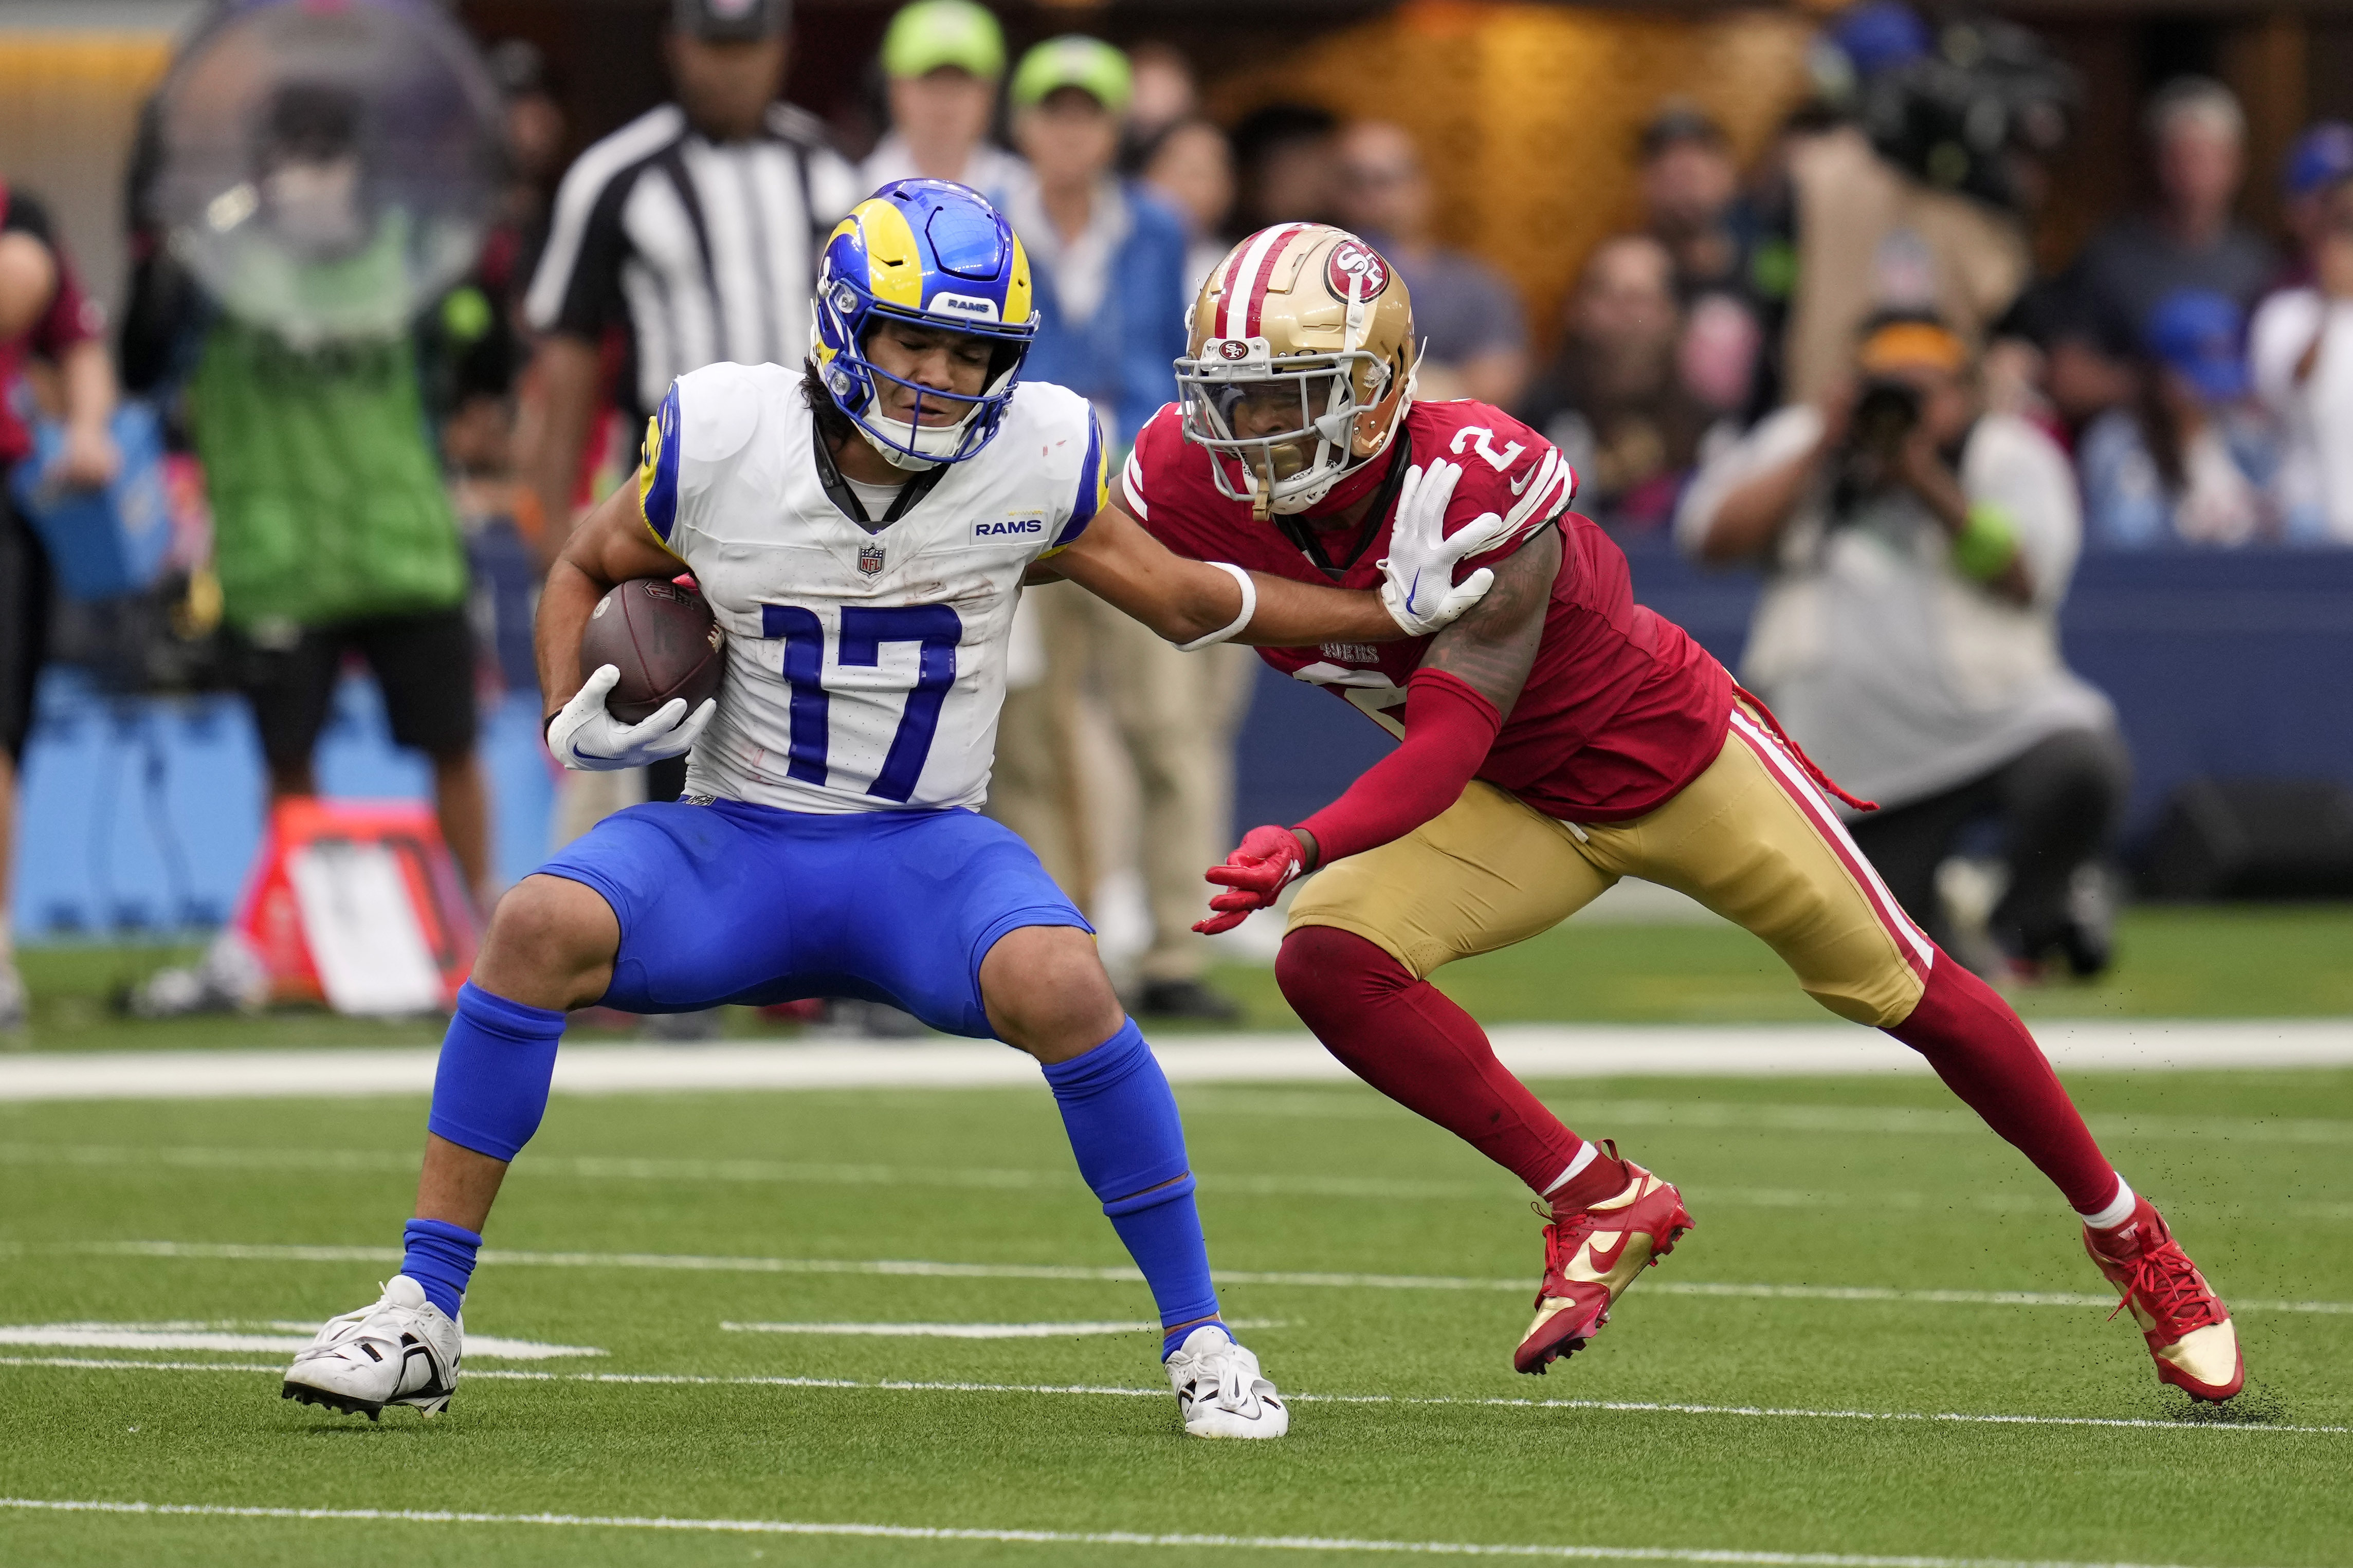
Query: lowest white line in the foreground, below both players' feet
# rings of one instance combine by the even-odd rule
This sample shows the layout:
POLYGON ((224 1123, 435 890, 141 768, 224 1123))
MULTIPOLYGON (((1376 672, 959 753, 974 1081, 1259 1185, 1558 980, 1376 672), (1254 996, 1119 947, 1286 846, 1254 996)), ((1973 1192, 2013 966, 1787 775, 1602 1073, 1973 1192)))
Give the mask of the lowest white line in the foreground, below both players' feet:
POLYGON ((179 1519, 294 1519, 362 1523, 555 1526, 588 1530, 692 1530, 713 1535, 835 1535, 1040 1547, 1174 1547, 1184 1552, 1388 1552, 1414 1556, 1522 1556, 1640 1563, 1755 1563, 1758 1568, 2153 1568, 2146 1563, 2024 1563, 1993 1556, 1868 1556, 1847 1552, 1739 1552, 1729 1547, 1555 1547, 1468 1540, 1367 1540, 1355 1535, 1148 1535, 1139 1530, 986 1530, 969 1526, 812 1523, 798 1519, 668 1519, 631 1514, 459 1514, 424 1509, 294 1509, 226 1502, 111 1502, 0 1497, 0 1509, 52 1514, 148 1514, 179 1519))

